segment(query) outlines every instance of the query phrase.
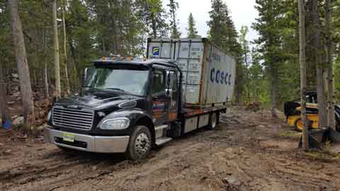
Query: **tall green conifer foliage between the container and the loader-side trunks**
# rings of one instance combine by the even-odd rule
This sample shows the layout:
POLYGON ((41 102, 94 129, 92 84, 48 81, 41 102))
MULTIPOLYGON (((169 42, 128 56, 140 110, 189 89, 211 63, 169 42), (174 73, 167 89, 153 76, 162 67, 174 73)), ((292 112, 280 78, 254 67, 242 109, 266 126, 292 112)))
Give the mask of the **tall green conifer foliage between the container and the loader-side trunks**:
POLYGON ((258 31, 255 40, 263 60, 264 77, 274 107, 281 108, 287 100, 300 95, 298 61, 297 13, 295 1, 257 0, 259 18, 253 28, 258 31))

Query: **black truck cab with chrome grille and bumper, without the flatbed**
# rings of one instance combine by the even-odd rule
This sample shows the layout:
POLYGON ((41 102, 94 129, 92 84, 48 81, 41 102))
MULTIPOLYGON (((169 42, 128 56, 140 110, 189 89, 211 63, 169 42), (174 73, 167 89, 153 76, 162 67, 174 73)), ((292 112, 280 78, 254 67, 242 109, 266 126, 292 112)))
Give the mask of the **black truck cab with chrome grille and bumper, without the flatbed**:
POLYGON ((52 106, 45 140, 60 148, 145 158, 152 146, 184 133, 181 79, 176 63, 167 60, 96 60, 84 70, 81 93, 52 106))

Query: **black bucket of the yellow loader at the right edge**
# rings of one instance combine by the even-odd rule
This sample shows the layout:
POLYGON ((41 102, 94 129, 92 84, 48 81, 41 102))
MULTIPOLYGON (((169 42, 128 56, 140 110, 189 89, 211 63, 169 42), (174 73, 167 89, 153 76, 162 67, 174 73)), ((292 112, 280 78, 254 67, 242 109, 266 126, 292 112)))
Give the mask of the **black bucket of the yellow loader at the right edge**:
MULTIPOLYGON (((340 132, 336 132, 332 128, 310 129, 308 140, 310 149, 327 149, 331 153, 340 153, 340 132)), ((302 137, 299 147, 302 147, 302 137)))

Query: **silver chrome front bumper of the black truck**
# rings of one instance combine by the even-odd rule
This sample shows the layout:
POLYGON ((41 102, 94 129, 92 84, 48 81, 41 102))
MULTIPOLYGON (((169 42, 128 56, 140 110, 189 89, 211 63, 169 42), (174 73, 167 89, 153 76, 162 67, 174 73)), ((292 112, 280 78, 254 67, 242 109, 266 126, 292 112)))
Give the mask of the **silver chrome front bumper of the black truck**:
POLYGON ((129 139, 130 136, 91 136, 86 134, 63 132, 48 127, 45 128, 46 143, 96 153, 124 153, 128 148, 129 139), (74 135, 74 142, 63 141, 64 133, 74 135))

